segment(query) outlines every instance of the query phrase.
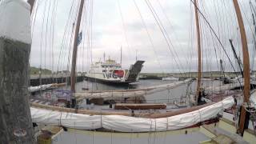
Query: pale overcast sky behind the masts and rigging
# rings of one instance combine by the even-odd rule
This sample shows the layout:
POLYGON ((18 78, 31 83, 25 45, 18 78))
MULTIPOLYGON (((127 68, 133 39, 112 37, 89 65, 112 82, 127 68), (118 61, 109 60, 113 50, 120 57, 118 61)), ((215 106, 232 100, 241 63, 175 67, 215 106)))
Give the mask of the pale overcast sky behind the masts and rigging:
MULTIPOLYGON (((37 0, 31 16, 30 65, 50 70, 70 70, 74 24, 80 0, 37 0), (73 33, 72 33, 73 32, 73 33), (70 55, 70 56, 69 56, 70 55)), ((250 0, 240 0, 250 65, 254 70, 254 26, 250 0)), ((256 3, 253 1, 253 5, 256 3)), ((241 40, 232 0, 201 0, 198 8, 202 35, 202 69, 238 70, 229 39, 242 58, 241 40), (218 38, 220 42, 218 42, 218 38), (223 46, 223 47, 222 47, 223 46), (226 54, 224 53, 226 50, 226 54)), ((188 72, 197 70, 198 51, 194 5, 190 0, 85 0, 78 46, 77 71, 87 71, 91 62, 112 58, 129 68, 146 61, 142 72, 188 72), (152 14, 153 11, 153 14, 152 14), (157 19, 157 20, 156 20, 157 19)))

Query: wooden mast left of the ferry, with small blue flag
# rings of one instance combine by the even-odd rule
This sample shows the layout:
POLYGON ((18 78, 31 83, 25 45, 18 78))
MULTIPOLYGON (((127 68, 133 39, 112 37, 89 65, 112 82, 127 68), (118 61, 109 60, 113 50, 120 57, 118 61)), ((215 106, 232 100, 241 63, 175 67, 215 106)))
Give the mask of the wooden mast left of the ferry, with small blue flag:
MULTIPOLYGON (((75 32, 74 32, 74 45, 73 45, 73 54, 72 54, 72 67, 71 67, 71 76, 70 76, 70 85, 71 85, 71 93, 74 94, 75 92, 75 82, 76 82, 76 77, 75 77, 75 69, 77 65, 77 53, 78 53, 78 33, 80 29, 80 23, 81 23, 81 17, 82 17, 82 7, 84 4, 84 0, 81 0, 80 6, 79 6, 79 11, 78 11, 78 19, 75 27, 75 32)), ((75 99, 72 96, 72 107, 75 105, 75 99)))

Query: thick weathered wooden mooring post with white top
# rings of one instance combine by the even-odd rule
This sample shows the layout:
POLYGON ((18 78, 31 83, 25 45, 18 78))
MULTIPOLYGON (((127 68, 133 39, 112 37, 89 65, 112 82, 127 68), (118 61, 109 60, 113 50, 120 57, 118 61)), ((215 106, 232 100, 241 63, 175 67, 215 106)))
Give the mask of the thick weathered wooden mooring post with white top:
POLYGON ((0 3, 0 143, 35 143, 29 103, 30 5, 0 3))

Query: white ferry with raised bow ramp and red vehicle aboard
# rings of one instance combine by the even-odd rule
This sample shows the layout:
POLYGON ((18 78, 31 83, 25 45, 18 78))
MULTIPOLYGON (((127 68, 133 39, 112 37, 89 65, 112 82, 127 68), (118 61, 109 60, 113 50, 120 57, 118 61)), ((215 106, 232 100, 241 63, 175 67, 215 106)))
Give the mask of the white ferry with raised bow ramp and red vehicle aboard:
POLYGON ((122 69, 122 64, 113 59, 108 58, 104 62, 95 62, 90 66, 86 78, 91 81, 103 82, 108 84, 129 84, 138 82, 143 63, 145 61, 138 60, 130 65, 129 70, 122 69))

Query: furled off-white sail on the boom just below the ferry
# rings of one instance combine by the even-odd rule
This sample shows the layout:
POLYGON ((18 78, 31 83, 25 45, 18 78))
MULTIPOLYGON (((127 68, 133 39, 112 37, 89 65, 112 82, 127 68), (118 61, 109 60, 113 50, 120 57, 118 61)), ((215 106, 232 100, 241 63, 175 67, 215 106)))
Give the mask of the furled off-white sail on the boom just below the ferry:
POLYGON ((181 86, 191 81, 192 81, 192 78, 188 78, 184 81, 179 81, 179 82, 174 82, 174 83, 169 83, 169 84, 159 85, 159 86, 150 86, 147 88, 134 89, 130 91, 106 91, 106 92, 98 92, 98 93, 83 92, 83 93, 75 93, 74 95, 75 95, 75 98, 104 98, 104 99, 135 98, 135 97, 146 96, 146 94, 154 94, 162 90, 174 89, 175 87, 181 86))

